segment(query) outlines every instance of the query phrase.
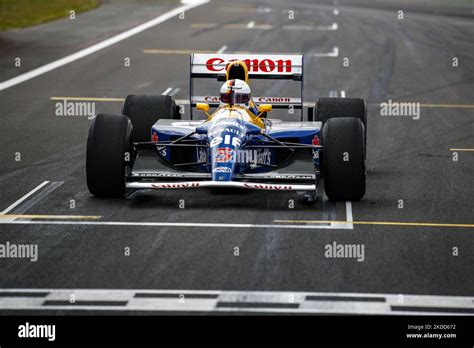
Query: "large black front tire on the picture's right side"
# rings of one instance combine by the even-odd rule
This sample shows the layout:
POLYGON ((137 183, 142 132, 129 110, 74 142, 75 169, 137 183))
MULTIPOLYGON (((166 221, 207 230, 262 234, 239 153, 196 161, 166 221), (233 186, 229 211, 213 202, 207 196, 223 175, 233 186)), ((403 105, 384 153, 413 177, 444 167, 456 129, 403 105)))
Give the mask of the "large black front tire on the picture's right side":
POLYGON ((328 119, 322 131, 324 191, 331 201, 358 201, 365 194, 365 129, 355 117, 328 119))

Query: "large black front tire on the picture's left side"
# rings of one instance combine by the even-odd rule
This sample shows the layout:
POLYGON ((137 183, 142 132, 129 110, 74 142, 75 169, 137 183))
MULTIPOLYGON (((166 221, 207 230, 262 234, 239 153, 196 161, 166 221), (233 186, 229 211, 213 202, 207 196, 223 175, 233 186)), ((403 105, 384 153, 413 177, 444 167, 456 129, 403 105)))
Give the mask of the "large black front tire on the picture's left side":
POLYGON ((128 117, 99 114, 87 138, 86 175, 89 191, 98 197, 123 197, 125 172, 133 161, 133 126, 128 117))

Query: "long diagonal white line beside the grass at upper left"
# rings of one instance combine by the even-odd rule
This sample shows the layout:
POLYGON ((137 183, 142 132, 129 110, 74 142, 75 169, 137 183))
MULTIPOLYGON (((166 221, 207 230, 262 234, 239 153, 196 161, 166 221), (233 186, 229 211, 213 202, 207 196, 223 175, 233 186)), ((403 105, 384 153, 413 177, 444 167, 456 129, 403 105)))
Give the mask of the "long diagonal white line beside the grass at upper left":
POLYGON ((9 79, 9 80, 6 80, 2 83, 0 83, 0 91, 4 90, 4 89, 7 89, 7 88, 10 88, 12 86, 15 86, 19 83, 22 83, 22 82, 25 82, 27 80, 30 80, 36 76, 39 76, 39 75, 42 75, 44 73, 47 73, 51 70, 54 70, 54 69, 57 69, 63 65, 66 65, 66 64, 69 64, 71 62, 74 62, 78 59, 81 59, 81 58, 84 58, 92 53, 95 53, 99 50, 102 50, 106 47, 109 47, 111 45, 114 45, 116 44, 117 42, 120 42, 120 41, 123 41, 125 39, 128 39, 129 37, 133 36, 133 35, 136 35, 138 33, 141 33, 142 31, 144 30, 147 30, 151 27, 154 27, 160 23, 163 23, 165 21, 167 21, 168 19, 171 19, 175 16, 178 16, 179 14, 187 11, 187 10, 190 10, 194 7, 197 7, 197 6, 200 6, 200 5, 204 5, 206 3, 208 3, 209 0, 187 0, 186 1, 186 4, 183 5, 183 6, 180 6, 180 7, 177 7, 169 12, 166 12, 148 22, 145 22, 145 23, 142 23, 132 29, 129 29, 127 31, 124 31, 123 33, 120 33, 118 35, 115 35, 115 36, 112 36, 111 38, 108 38, 104 41, 101 41, 95 45, 92 45, 90 47, 87 47, 83 50, 80 50, 76 53, 73 53, 69 56, 66 56, 64 58, 61 58, 61 59, 58 59, 54 62, 51 62, 49 64, 46 64, 46 65, 43 65, 39 68, 36 68, 36 69, 33 69, 27 73, 24 73, 22 75, 19 75, 17 77, 14 77, 12 79, 9 79))

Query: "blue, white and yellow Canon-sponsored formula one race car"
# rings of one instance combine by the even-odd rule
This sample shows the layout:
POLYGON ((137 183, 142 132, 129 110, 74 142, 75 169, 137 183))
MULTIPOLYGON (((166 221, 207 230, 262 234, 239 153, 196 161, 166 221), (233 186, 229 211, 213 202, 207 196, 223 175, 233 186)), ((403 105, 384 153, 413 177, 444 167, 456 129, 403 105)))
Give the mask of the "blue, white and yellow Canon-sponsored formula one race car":
POLYGON ((303 122, 302 55, 192 54, 189 102, 189 120, 168 95, 129 95, 121 115, 97 115, 87 140, 90 192, 241 188, 300 191, 314 200, 324 176, 330 200, 364 196, 365 103, 321 98, 316 120, 313 104, 303 122), (224 81, 220 96, 194 96, 195 78, 224 81), (300 97, 252 97, 250 78, 297 81, 300 97), (194 120, 193 108, 206 118, 194 120), (268 118, 273 108, 301 109, 301 119, 268 118))

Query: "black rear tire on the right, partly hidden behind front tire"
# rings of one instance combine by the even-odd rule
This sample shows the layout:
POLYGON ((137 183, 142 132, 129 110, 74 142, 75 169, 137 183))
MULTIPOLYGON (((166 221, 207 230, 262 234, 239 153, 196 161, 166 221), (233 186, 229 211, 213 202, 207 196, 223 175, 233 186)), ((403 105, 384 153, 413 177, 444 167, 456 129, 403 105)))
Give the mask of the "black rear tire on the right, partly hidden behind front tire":
POLYGON ((360 98, 319 98, 316 103, 316 121, 322 122, 335 117, 355 117, 362 121, 367 138, 367 107, 360 98))

